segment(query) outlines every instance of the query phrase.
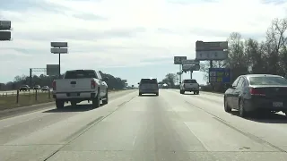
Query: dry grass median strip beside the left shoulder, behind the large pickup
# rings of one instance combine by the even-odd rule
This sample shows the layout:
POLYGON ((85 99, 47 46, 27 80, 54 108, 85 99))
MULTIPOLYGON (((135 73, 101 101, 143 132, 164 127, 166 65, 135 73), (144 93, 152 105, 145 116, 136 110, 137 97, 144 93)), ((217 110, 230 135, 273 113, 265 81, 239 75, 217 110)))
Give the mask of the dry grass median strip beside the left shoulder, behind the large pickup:
MULTIPOLYGON (((122 89, 110 89, 109 93, 117 92, 120 90, 122 89)), ((1 95, 0 96, 0 110, 54 102, 55 99, 52 96, 52 92, 50 93, 50 97, 48 95, 49 95, 48 92, 39 92, 37 93, 37 99, 36 99, 36 93, 34 92, 30 92, 30 93, 21 92, 19 93, 18 103, 17 103, 17 94, 1 95)))

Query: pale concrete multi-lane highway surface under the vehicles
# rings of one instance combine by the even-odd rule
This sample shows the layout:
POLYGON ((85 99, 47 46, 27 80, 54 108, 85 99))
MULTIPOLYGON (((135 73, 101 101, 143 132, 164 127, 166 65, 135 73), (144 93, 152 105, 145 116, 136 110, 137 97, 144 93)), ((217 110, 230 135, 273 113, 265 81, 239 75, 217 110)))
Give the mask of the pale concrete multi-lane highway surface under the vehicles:
POLYGON ((282 114, 240 118, 223 110, 220 94, 160 96, 137 90, 109 95, 109 104, 87 103, 0 120, 0 160, 6 161, 270 161, 287 159, 282 114))

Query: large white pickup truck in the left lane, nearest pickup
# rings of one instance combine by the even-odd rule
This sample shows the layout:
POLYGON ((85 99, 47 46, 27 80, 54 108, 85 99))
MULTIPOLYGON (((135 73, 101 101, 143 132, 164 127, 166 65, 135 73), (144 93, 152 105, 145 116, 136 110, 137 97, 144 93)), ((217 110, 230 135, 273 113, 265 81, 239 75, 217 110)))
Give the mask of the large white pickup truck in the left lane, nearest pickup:
POLYGON ((53 97, 57 108, 62 108, 65 102, 76 106, 84 100, 92 101, 93 107, 108 104, 108 78, 101 78, 100 72, 94 70, 74 70, 65 72, 64 78, 53 81, 53 97))

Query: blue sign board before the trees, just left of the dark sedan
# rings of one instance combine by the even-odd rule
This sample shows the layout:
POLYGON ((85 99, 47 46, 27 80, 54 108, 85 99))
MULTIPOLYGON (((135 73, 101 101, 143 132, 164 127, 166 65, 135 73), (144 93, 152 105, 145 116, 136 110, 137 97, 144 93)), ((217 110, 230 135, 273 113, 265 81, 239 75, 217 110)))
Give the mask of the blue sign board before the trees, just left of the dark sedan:
POLYGON ((209 82, 230 83, 230 68, 209 68, 209 82))

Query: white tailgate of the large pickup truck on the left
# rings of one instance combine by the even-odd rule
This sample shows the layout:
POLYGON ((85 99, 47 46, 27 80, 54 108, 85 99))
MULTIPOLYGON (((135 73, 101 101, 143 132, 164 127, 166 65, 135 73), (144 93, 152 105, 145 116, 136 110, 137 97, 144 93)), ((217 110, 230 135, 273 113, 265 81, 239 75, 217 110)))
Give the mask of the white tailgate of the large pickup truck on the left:
POLYGON ((91 91, 91 79, 56 80, 57 92, 91 91))

